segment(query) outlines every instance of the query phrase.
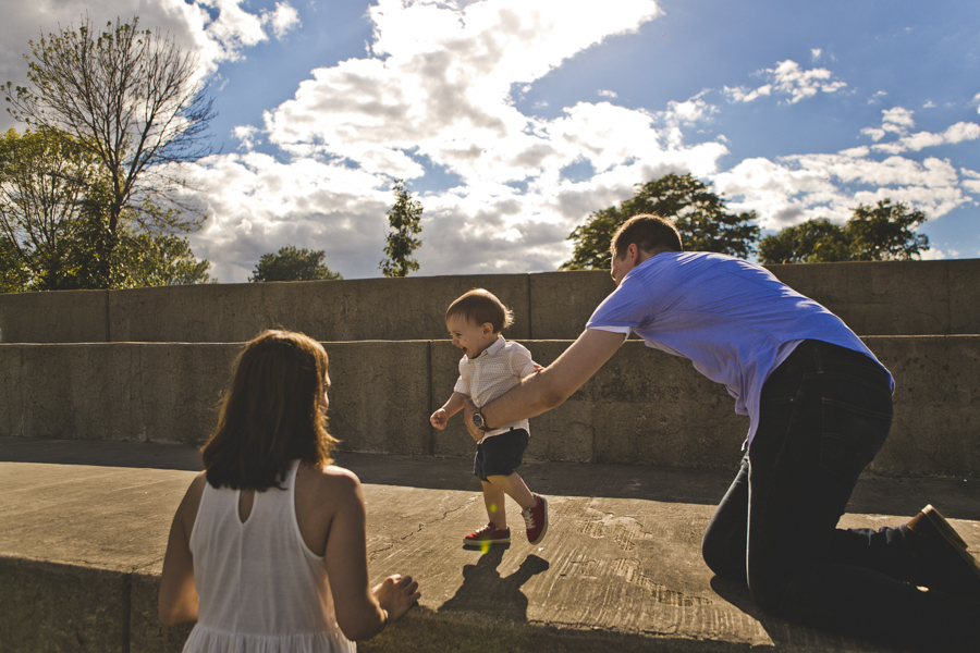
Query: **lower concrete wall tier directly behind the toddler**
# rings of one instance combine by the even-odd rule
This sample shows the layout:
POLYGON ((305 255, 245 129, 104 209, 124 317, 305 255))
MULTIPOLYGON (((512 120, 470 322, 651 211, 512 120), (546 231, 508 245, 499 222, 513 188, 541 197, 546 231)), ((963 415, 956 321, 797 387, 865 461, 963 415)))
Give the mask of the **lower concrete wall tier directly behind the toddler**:
MULTIPOLYGON (((980 336, 870 337, 896 377, 892 435, 871 471, 980 476, 980 336)), ((548 365, 568 341, 525 341, 548 365)), ((444 341, 324 343, 331 432, 341 448, 470 456, 449 396, 458 352, 444 341)), ((0 346, 0 435, 200 443, 241 345, 118 343, 0 346)), ((682 358, 629 341, 560 408, 531 421, 538 460, 732 468, 747 419, 682 358)))

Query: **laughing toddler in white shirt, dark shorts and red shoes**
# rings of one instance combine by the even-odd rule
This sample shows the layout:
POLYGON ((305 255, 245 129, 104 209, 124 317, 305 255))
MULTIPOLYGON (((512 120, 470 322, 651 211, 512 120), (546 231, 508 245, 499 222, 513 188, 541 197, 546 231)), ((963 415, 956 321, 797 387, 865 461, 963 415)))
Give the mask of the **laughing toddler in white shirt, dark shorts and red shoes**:
MULTIPOLYGON (((501 331, 511 325, 514 313, 492 293, 482 288, 469 291, 445 311, 445 326, 453 345, 462 349, 460 379, 446 403, 429 421, 440 431, 450 417, 463 409, 468 396, 474 404, 495 399, 536 370, 530 352, 517 343, 509 343, 501 331)), ((490 522, 463 538, 466 546, 506 544, 511 541, 504 494, 522 508, 527 525, 527 541, 537 544, 548 530, 548 502, 531 494, 515 469, 520 467, 527 448, 528 422, 520 420, 483 431, 477 442, 473 473, 483 486, 483 503, 490 522)))

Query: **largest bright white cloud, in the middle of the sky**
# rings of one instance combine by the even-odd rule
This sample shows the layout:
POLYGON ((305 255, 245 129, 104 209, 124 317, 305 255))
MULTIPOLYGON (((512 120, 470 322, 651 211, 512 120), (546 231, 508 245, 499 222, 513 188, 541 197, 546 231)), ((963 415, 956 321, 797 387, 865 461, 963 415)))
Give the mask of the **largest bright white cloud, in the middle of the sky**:
MULTIPOLYGON (((292 99, 266 113, 260 132, 294 163, 247 153, 212 157, 203 167, 212 188, 208 207, 224 218, 194 237, 195 251, 230 247, 242 251, 240 260, 254 261, 257 243, 267 243, 267 250, 287 244, 287 224, 305 225, 306 246, 322 248, 320 238, 338 239, 336 227, 316 224, 359 222, 373 225, 380 259, 391 178, 406 178, 411 188, 433 165, 461 185, 418 196, 426 212, 416 255, 425 273, 554 269, 571 251, 566 236, 589 212, 632 196, 640 180, 716 172, 727 151, 720 143, 684 143, 677 125, 713 111, 698 97, 658 114, 599 101, 539 119, 514 106, 512 88, 526 93, 565 59, 635 30, 659 11, 649 0, 500 0, 458 10, 430 0, 381 0, 369 10, 375 33, 367 57, 313 71, 292 99), (564 178, 562 171, 576 162, 595 174, 564 178), (315 174, 293 175, 301 163, 315 174), (335 197, 311 188, 318 177, 338 174, 355 174, 371 200, 348 197, 338 208, 335 197), (285 180, 287 193, 280 187, 285 180), (297 199, 265 206, 259 195, 297 199), (302 197, 323 199, 303 212, 302 197), (522 247, 514 247, 517 241, 522 247)), ((252 128, 238 135, 246 148, 259 137, 252 128)), ((340 237, 354 238, 358 250, 356 234, 340 237)), ((348 256, 336 269, 352 278, 375 275, 377 261, 348 256)), ((241 280, 244 272, 238 266, 225 274, 241 280)))

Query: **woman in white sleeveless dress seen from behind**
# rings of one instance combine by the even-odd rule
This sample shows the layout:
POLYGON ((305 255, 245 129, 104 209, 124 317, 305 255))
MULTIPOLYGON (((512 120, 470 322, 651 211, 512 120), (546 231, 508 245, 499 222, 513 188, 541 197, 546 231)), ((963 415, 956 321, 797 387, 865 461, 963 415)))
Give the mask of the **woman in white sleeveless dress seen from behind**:
POLYGON ((238 357, 218 427, 173 518, 159 613, 194 621, 185 653, 355 651, 418 600, 368 584, 357 477, 331 465, 327 353, 266 331, 238 357))

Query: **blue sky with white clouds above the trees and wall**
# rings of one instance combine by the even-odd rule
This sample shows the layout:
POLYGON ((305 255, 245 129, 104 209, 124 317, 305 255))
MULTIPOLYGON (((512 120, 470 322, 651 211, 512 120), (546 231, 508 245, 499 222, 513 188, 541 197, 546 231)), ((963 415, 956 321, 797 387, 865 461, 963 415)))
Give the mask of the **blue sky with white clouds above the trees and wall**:
MULTIPOLYGON (((980 257, 976 0, 0 0, 0 83, 28 39, 139 17, 200 61, 212 155, 189 236, 222 283, 323 250, 380 276, 392 186, 416 274, 553 271, 637 184, 691 173, 763 234, 919 209, 927 259, 980 257)), ((23 128, 5 113, 0 130, 23 128)))

